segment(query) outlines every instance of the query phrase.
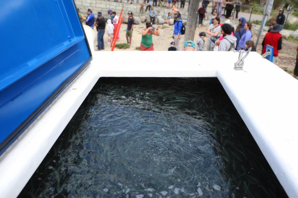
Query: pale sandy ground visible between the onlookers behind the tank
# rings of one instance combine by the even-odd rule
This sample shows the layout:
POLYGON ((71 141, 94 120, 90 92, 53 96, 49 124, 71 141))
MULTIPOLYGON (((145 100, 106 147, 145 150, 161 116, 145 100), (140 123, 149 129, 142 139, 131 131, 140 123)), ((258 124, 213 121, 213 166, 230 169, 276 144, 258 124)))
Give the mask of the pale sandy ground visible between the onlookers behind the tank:
MULTIPOLYGON (((154 45, 154 50, 155 51, 166 51, 169 48, 170 42, 174 41, 172 39, 173 36, 173 31, 174 31, 174 26, 170 25, 169 28, 163 28, 162 25, 157 25, 160 29, 160 36, 157 37, 153 35, 153 45, 154 45)), ((126 37, 125 37, 125 29, 127 28, 127 24, 122 24, 120 28, 120 39, 117 41, 117 43, 127 43, 126 37)), ((131 47, 129 49, 117 49, 115 48, 115 51, 136 51, 136 47, 140 46, 142 35, 141 31, 142 29, 145 28, 145 24, 140 24, 140 25, 134 25, 133 28, 133 37, 132 37, 132 42, 131 42, 131 47)), ((199 32, 206 31, 208 27, 201 26, 201 28, 196 28, 196 33, 195 33, 195 38, 194 41, 198 39, 198 34, 199 32)), ((94 27, 94 32, 95 35, 97 35, 96 28, 94 27)), ((252 29, 252 40, 256 41, 257 36, 258 36, 258 31, 252 29)), ((262 48, 262 41, 263 41, 264 36, 260 37, 259 45, 257 48, 257 52, 261 53, 261 48, 262 48)), ((104 35, 104 41, 105 41, 105 49, 104 51, 111 51, 111 47, 109 44, 107 44, 107 34, 105 33, 104 35)), ((180 40, 180 50, 183 50, 183 41, 184 41, 184 35, 182 35, 182 38, 180 40)), ((95 36, 95 41, 94 41, 94 48, 97 49, 97 36, 95 36)), ((206 43, 205 43, 206 45, 206 43)), ((285 39, 282 41, 282 50, 279 51, 278 57, 276 59, 275 64, 278 67, 283 68, 286 70, 288 73, 292 74, 295 64, 296 64, 296 47, 297 47, 296 42, 290 42, 285 39)), ((206 49, 206 48, 205 48, 206 49)))

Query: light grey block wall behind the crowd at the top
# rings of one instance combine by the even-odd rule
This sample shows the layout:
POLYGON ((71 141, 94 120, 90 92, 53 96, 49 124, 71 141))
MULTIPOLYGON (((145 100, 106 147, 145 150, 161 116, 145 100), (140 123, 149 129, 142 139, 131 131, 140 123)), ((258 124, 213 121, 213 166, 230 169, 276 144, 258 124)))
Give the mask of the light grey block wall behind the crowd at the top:
MULTIPOLYGON (((120 15, 121 9, 123 8, 123 14, 127 14, 129 11, 133 12, 135 16, 146 16, 149 15, 149 11, 140 13, 140 5, 138 4, 127 4, 111 1, 102 1, 102 0, 75 0, 76 6, 80 9, 80 12, 83 14, 86 13, 87 9, 90 8, 93 11, 93 14, 96 15, 97 12, 102 12, 103 15, 107 14, 107 10, 112 10, 120 15)), ((156 16, 160 15, 163 18, 166 17, 167 13, 172 13, 171 9, 162 8, 160 11, 157 7, 154 8, 156 10, 156 16)), ((144 7, 146 10, 146 7, 144 7)), ((187 19, 187 12, 181 12, 181 18, 183 20, 187 19)))

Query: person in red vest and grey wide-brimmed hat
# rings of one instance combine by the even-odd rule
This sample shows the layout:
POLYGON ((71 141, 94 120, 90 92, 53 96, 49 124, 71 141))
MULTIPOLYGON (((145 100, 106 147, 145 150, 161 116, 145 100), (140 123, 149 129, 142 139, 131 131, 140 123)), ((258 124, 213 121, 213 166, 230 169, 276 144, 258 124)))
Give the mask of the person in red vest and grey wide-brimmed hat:
POLYGON ((273 47, 273 63, 278 56, 278 50, 282 49, 282 35, 279 33, 284 28, 283 25, 275 24, 270 32, 268 32, 262 42, 263 50, 262 54, 266 52, 266 45, 273 47))

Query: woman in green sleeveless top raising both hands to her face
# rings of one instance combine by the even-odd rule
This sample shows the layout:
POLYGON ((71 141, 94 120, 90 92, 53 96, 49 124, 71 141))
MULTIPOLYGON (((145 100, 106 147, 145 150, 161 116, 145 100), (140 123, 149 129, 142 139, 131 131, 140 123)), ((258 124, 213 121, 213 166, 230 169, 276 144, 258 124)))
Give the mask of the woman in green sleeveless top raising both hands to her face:
POLYGON ((152 43, 152 35, 159 36, 158 28, 152 30, 152 24, 147 22, 146 29, 142 30, 141 51, 154 51, 152 43))

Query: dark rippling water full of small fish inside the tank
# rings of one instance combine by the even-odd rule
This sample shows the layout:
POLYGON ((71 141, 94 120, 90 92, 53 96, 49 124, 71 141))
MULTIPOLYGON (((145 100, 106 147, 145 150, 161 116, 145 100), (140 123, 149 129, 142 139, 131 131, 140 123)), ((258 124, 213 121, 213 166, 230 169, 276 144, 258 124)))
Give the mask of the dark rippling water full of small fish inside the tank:
POLYGON ((20 197, 287 197, 217 79, 101 78, 20 197))

